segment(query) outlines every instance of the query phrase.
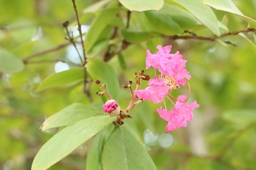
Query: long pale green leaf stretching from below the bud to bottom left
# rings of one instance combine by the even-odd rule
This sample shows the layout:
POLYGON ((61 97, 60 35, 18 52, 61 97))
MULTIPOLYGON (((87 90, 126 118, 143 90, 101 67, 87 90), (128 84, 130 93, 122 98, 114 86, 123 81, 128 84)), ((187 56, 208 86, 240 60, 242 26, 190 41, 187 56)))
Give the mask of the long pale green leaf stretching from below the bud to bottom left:
POLYGON ((64 128, 41 147, 31 169, 47 169, 56 164, 114 120, 116 117, 109 115, 94 116, 64 128))

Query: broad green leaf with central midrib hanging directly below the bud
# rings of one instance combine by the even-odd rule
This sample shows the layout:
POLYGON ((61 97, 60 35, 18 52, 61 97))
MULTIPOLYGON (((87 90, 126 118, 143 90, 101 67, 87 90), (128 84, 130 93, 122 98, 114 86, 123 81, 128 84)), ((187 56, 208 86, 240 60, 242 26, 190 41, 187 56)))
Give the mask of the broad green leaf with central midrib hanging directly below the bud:
POLYGON ((125 128, 116 126, 103 149, 103 169, 156 169, 142 144, 125 128))

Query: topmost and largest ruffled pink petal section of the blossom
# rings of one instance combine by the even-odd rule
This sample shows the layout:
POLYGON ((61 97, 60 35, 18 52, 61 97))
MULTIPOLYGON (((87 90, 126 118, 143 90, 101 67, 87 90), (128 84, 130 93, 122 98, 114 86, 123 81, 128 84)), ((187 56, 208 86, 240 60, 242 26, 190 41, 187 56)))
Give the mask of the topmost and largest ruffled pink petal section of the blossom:
POLYGON ((158 71, 165 76, 173 77, 177 81, 177 85, 185 84, 187 78, 191 78, 189 72, 185 69, 186 60, 183 60, 183 56, 180 52, 175 54, 169 54, 171 51, 171 45, 162 47, 158 45, 158 52, 151 54, 149 50, 146 51, 146 69, 149 67, 158 68, 158 71))

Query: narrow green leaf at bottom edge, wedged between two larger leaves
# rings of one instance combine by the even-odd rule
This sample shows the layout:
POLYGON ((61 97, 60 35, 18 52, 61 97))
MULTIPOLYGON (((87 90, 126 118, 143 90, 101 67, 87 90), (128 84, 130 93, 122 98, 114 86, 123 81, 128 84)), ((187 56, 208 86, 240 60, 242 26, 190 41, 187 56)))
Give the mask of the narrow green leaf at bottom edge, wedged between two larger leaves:
POLYGON ((101 130, 95 138, 92 140, 87 154, 86 168, 87 170, 101 170, 103 169, 103 164, 101 162, 103 149, 105 142, 113 131, 114 126, 107 126, 105 129, 101 130))

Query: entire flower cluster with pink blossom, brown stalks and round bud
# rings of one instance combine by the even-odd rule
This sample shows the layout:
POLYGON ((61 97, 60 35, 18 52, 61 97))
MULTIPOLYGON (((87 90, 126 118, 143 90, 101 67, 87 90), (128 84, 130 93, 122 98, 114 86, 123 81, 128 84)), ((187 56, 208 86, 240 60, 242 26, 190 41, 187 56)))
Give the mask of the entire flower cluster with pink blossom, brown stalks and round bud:
POLYGON ((149 50, 146 51, 146 69, 152 66, 155 69, 155 77, 151 79, 148 74, 144 74, 144 70, 141 70, 139 73, 135 71, 136 90, 134 93, 132 90, 132 80, 129 81, 128 85, 123 86, 124 89, 129 89, 132 95, 127 109, 120 109, 116 100, 111 99, 110 95, 107 93, 105 84, 100 84, 100 80, 95 81, 95 83, 100 84, 100 87, 103 89, 102 92, 96 92, 96 94, 99 96, 105 95, 108 99, 108 101, 103 104, 104 112, 108 113, 110 116, 117 117, 116 125, 123 125, 123 119, 132 118, 132 116, 127 115, 127 113, 136 106, 136 104, 142 102, 142 100, 150 100, 153 103, 164 102, 165 109, 162 109, 161 106, 156 109, 156 111, 162 119, 168 121, 166 132, 171 132, 181 126, 185 127, 188 121, 193 120, 192 110, 199 107, 199 104, 197 104, 196 101, 187 104, 185 96, 181 95, 175 98, 170 94, 172 89, 180 89, 179 85, 183 84, 184 86, 187 80, 191 78, 189 72, 185 69, 185 63, 187 61, 183 60, 183 56, 178 51, 175 54, 169 54, 171 45, 166 47, 158 45, 157 48, 159 51, 155 54, 151 54, 149 50), (161 73, 160 76, 156 76, 156 70, 161 73), (142 80, 149 80, 149 83, 146 89, 140 90, 142 80), (174 104, 170 97, 177 100, 177 102, 174 104), (137 100, 137 98, 139 98, 139 100, 137 100), (174 104, 172 110, 167 110, 165 98, 169 99, 172 104, 174 104))

